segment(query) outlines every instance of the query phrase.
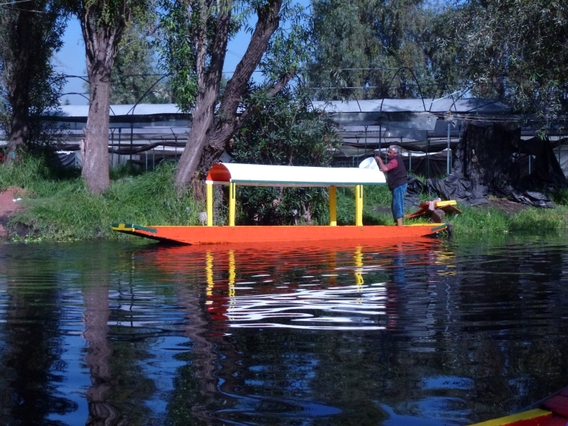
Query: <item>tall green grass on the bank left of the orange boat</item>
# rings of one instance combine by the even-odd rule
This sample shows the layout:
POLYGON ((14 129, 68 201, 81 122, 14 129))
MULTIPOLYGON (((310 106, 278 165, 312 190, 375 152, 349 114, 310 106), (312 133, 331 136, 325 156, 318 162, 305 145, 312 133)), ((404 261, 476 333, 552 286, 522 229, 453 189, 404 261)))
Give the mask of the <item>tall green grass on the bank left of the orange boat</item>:
POLYGON ((173 170, 173 164, 163 163, 155 172, 111 182, 103 195, 90 195, 80 177, 62 177, 43 160, 26 158, 18 167, 0 168, 0 185, 26 189, 26 211, 11 222, 28 226, 40 239, 116 238, 112 222, 198 223, 197 212, 203 208, 190 195, 178 199, 173 170))

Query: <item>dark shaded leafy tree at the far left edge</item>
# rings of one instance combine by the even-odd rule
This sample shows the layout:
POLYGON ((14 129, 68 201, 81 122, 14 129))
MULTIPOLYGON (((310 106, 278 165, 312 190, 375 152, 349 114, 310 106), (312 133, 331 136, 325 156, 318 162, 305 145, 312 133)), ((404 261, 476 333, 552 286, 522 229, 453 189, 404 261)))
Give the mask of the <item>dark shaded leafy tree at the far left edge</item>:
POLYGON ((58 105, 62 77, 50 58, 61 48, 65 1, 31 0, 0 6, 0 110, 7 134, 6 165, 19 148, 38 142, 38 118, 58 105))

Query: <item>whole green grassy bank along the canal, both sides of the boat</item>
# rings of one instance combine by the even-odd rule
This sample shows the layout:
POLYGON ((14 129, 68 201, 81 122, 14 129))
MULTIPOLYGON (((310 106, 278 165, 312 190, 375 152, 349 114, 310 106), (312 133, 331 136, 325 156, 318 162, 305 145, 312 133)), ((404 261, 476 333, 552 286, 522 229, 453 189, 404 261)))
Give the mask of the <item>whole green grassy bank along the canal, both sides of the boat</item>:
MULTIPOLYGON (((89 195, 79 170, 50 170, 37 158, 9 170, 0 168, 0 189, 10 186, 26 190, 24 212, 14 215, 9 225, 20 224, 18 234, 11 239, 75 240, 124 238, 111 231, 112 222, 136 224, 195 225, 197 213, 204 203, 187 195, 178 200, 173 185, 174 165, 163 164, 155 172, 136 174, 128 168, 113 170, 111 186, 103 195, 89 195)), ((560 201, 567 197, 561 197, 560 201)), ((428 196, 423 195, 423 200, 428 196)), ((391 192, 386 186, 364 188, 364 224, 393 224, 391 192)), ((527 207, 515 214, 491 207, 459 208, 459 216, 448 216, 454 233, 503 234, 515 231, 565 231, 568 229, 568 207, 558 204, 554 209, 527 207)), ((222 212, 223 215, 223 212, 222 212)), ((354 192, 338 188, 337 219, 339 224, 354 222, 354 192)), ((326 223, 327 217, 320 222, 326 223)), ((405 223, 427 222, 427 219, 406 220, 405 223)))

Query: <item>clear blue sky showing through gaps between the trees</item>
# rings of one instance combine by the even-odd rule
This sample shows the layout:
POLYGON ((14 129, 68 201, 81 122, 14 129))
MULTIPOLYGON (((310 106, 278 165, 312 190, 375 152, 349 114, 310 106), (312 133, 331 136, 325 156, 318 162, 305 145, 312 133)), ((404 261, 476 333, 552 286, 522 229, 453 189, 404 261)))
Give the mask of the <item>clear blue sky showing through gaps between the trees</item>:
MULTIPOLYGON (((249 40, 250 34, 241 31, 229 41, 223 68, 227 77, 231 77, 231 72, 234 71, 239 60, 243 57, 249 45, 249 40)), ((80 23, 76 18, 69 21, 67 30, 63 35, 63 47, 55 55, 53 63, 59 72, 86 78, 87 62, 85 60, 83 35, 80 23)), ((63 89, 62 102, 69 99, 69 102, 74 105, 88 104, 88 94, 84 93, 83 83, 84 80, 80 78, 68 78, 65 89, 63 89), (83 95, 72 93, 82 93, 83 95)))

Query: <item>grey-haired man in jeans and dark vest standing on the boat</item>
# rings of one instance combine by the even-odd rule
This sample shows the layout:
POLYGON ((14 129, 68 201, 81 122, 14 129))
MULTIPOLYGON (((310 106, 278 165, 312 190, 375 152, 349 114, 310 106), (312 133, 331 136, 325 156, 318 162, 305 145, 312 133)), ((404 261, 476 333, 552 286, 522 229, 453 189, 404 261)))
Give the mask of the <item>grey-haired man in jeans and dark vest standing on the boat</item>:
POLYGON ((408 175, 406 174, 406 168, 403 158, 400 156, 398 146, 390 146, 387 157, 387 164, 383 163, 380 153, 375 155, 375 160, 381 172, 386 173, 388 189, 393 193, 393 203, 391 204, 393 219, 395 219, 397 226, 403 226, 404 195, 406 188, 408 188, 408 175))

